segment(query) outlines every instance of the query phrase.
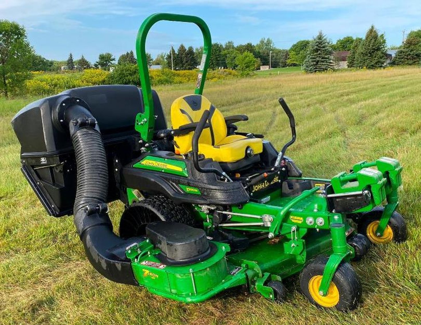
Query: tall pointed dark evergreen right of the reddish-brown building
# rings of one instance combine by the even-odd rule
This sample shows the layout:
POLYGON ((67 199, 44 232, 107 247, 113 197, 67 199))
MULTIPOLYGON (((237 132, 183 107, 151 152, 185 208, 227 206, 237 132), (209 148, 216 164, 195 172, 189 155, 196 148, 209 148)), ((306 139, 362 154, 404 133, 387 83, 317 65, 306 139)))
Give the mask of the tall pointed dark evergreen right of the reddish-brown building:
POLYGON ((367 69, 381 68, 386 61, 386 52, 384 35, 378 35, 374 25, 371 25, 357 51, 355 65, 360 68, 366 67, 367 69))

